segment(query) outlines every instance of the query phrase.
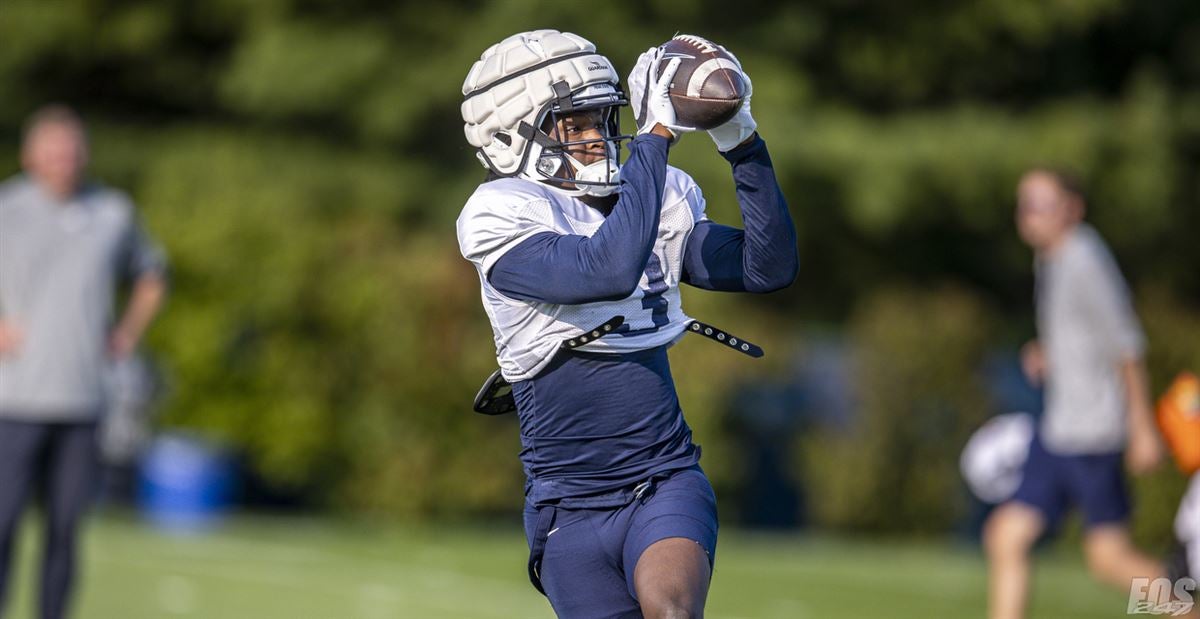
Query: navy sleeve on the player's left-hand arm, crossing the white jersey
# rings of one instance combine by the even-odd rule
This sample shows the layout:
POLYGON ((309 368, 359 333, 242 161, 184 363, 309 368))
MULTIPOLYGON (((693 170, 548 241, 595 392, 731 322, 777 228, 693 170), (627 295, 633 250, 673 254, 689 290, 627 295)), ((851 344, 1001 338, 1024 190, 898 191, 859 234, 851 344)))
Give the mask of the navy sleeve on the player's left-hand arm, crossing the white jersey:
POLYGON ((545 304, 578 305, 632 294, 659 235, 667 139, 638 136, 629 150, 617 204, 594 235, 535 234, 500 257, 487 281, 512 299, 545 304))

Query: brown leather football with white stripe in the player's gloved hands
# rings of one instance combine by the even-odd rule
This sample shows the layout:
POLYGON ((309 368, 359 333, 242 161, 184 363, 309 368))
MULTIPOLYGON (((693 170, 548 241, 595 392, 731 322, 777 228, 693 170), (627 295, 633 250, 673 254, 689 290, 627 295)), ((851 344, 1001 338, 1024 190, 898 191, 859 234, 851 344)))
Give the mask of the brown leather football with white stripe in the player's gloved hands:
POLYGON ((664 59, 682 59, 670 88, 680 125, 710 130, 738 113, 748 88, 742 68, 724 47, 695 35, 676 35, 660 47, 664 59))

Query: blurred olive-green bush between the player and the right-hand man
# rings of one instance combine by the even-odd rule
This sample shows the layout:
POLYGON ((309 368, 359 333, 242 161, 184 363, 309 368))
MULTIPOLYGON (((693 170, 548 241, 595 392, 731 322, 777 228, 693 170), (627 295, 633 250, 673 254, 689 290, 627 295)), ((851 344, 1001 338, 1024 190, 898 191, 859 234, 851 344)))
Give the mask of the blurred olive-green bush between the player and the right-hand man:
POLYGON ((929 533, 961 519, 958 457, 986 416, 977 368, 994 320, 959 290, 882 292, 864 301, 848 325, 854 419, 817 428, 797 449, 820 524, 929 533))

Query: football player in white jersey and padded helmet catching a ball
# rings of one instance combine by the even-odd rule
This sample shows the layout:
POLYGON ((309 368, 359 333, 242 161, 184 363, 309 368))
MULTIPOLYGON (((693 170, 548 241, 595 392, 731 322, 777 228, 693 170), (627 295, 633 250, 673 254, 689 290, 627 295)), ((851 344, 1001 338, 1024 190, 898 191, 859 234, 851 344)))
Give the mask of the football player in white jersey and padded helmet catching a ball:
POLYGON ((749 96, 709 132, 745 230, 709 221, 700 187, 667 166, 692 131, 667 95, 678 64, 647 50, 628 101, 595 46, 536 30, 490 47, 463 83, 467 140, 488 175, 458 244, 517 407, 529 576, 559 617, 702 615, 716 503, 667 362, 692 324, 679 284, 767 293, 797 272, 749 96), (631 139, 618 125, 629 103, 631 139), (624 324, 588 339, 613 317, 624 324))

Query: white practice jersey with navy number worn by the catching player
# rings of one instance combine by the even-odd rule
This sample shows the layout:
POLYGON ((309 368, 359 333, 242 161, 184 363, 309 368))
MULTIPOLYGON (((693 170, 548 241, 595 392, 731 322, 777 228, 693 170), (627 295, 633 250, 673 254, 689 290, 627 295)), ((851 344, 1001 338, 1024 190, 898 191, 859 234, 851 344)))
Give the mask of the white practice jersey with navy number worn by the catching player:
POLYGON ((496 356, 504 378, 509 381, 533 378, 550 363, 563 341, 614 315, 625 318, 622 332, 589 342, 578 350, 632 353, 674 343, 691 320, 683 313, 679 298, 684 247, 702 220, 704 198, 696 181, 667 166, 658 239, 634 294, 619 301, 582 305, 521 301, 488 283, 487 274, 497 260, 539 233, 592 236, 605 217, 541 182, 509 178, 480 185, 458 216, 458 247, 479 272, 484 310, 492 323, 496 356), (661 306, 656 312, 643 308, 648 294, 666 300, 665 313, 661 306))

